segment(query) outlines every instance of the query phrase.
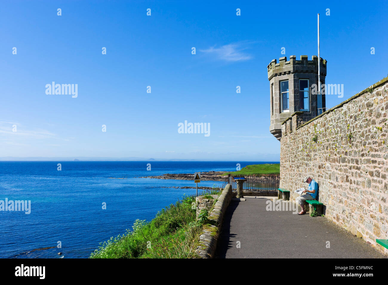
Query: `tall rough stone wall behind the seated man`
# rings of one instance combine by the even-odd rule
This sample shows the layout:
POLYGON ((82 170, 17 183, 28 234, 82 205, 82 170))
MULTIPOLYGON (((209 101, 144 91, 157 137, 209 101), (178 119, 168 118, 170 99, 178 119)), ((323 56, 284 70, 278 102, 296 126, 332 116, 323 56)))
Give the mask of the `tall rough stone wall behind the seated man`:
POLYGON ((388 254, 388 77, 318 117, 282 125, 280 188, 319 184, 326 218, 388 254), (372 90, 372 91, 371 91, 372 90), (371 93, 370 93, 371 92, 371 93))

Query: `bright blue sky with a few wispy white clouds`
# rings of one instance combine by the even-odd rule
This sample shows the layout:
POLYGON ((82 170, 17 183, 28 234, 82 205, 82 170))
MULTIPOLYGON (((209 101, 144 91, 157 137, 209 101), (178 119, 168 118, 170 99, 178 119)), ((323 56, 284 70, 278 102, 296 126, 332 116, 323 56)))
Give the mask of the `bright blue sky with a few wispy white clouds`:
POLYGON ((333 107, 387 76, 387 6, 3 1, 0 157, 279 160, 267 65, 282 47, 317 55, 320 13, 326 83, 344 85, 343 98, 327 96, 333 107), (47 95, 52 81, 78 84, 78 97, 47 95), (210 123, 210 136, 178 133, 185 120, 210 123))

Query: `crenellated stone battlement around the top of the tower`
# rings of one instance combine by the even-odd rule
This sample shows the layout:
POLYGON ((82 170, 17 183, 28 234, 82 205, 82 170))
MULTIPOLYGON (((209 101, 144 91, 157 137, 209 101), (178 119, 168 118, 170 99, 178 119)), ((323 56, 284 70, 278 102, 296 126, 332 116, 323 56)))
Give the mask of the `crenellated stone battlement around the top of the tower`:
MULTIPOLYGON (((326 64, 327 60, 320 58, 320 75, 326 76, 326 64)), ((308 60, 307 55, 301 55, 300 60, 296 60, 296 55, 291 55, 287 61, 287 57, 279 58, 279 62, 276 59, 272 59, 267 66, 268 80, 271 80, 274 76, 280 76, 290 73, 318 73, 318 57, 312 56, 312 60, 308 60)))

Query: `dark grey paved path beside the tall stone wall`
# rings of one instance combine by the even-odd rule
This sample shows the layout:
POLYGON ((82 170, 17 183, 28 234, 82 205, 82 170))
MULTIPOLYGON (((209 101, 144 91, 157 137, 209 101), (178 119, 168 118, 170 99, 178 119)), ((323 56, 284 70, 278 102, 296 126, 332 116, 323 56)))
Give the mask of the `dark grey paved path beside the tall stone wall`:
POLYGON ((218 258, 384 258, 323 217, 266 211, 267 198, 232 201, 218 238, 218 258), (241 242, 241 248, 236 242, 241 242), (326 248, 326 241, 330 248, 326 248))

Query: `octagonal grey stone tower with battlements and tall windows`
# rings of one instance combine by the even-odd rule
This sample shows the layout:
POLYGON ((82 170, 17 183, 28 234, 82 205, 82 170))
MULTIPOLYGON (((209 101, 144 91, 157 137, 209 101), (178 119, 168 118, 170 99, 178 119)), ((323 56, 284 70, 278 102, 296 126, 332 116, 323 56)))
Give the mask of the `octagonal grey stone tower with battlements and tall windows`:
MULTIPOLYGON (((320 82, 325 83, 326 60, 320 58, 320 82)), ((271 124, 270 132, 278 140, 282 137, 282 123, 295 112, 303 112, 303 122, 326 111, 324 92, 318 93, 318 57, 295 55, 281 57, 279 63, 273 59, 267 66, 270 81, 271 124)))

